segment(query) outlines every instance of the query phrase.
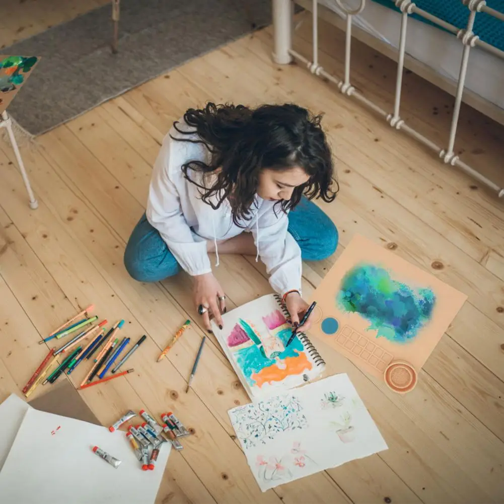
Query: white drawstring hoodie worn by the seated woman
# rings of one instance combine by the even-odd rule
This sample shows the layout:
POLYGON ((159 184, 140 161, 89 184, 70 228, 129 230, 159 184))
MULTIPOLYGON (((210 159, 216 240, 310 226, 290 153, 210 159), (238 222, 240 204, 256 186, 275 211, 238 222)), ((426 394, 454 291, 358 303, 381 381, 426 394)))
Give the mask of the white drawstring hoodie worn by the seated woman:
MULTIPOLYGON (((183 121, 177 128, 190 131, 183 121)), ((189 161, 209 163, 211 154, 208 149, 203 144, 172 140, 170 135, 198 139, 196 135, 181 135, 174 128, 166 135, 154 163, 146 215, 181 268, 193 276, 210 273, 207 240, 215 242, 218 266, 217 240, 247 231, 254 236, 258 257, 266 265, 273 289, 280 295, 292 289, 301 291, 301 250, 287 231, 285 212, 278 210, 277 206, 275 213, 275 202, 257 196, 251 220, 243 222, 244 228, 236 226, 229 202, 225 200, 218 210, 213 210, 202 201, 198 187, 186 180, 182 172, 181 166, 189 161)), ((199 172, 190 170, 188 173, 201 183, 199 172)))

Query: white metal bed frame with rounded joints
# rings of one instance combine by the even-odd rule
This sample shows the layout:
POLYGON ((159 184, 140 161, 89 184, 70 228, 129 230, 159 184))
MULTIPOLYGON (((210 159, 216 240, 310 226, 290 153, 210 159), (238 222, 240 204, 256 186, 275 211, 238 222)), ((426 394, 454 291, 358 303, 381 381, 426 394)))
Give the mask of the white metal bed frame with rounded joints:
MULTIPOLYGON (((346 41, 345 41, 345 75, 343 80, 334 77, 333 75, 326 72, 319 65, 319 46, 318 46, 318 21, 319 21, 319 5, 318 0, 311 0, 311 13, 312 13, 312 60, 309 61, 303 55, 299 54, 292 49, 292 20, 293 20, 293 6, 296 0, 272 0, 273 1, 273 28, 274 28, 274 52, 273 59, 279 65, 286 65, 292 61, 292 58, 300 61, 302 64, 306 65, 307 69, 314 75, 328 79, 329 81, 336 84, 339 90, 346 96, 356 98, 361 104, 373 110, 377 115, 383 117, 387 123, 399 131, 402 130, 415 138, 420 143, 426 145, 432 149, 436 154, 438 154, 440 160, 446 164, 452 166, 457 166, 462 169, 471 177, 479 180, 481 183, 488 186, 493 190, 499 198, 504 198, 504 188, 500 187, 474 168, 469 166, 467 163, 463 162, 459 156, 454 152, 455 138, 457 135, 457 125, 459 121, 460 106, 462 103, 462 95, 464 92, 464 84, 467 74, 467 67, 469 61, 469 52, 471 47, 481 47, 482 49, 491 52, 492 54, 504 59, 504 51, 483 42, 480 40, 478 35, 473 32, 474 20, 476 13, 486 12, 490 16, 493 16, 501 21, 504 21, 504 13, 498 12, 491 9, 486 5, 485 0, 461 0, 462 3, 469 9, 470 15, 467 22, 467 27, 465 29, 459 30, 456 26, 447 23, 422 9, 419 9, 410 0, 395 0, 395 5, 401 10, 401 35, 399 40, 399 55, 397 62, 397 77, 396 77, 396 92, 395 92, 395 102, 394 111, 389 113, 382 109, 379 105, 373 103, 370 99, 359 93, 350 82, 350 49, 352 41, 352 20, 353 16, 360 14, 365 7, 366 0, 359 0, 359 6, 355 9, 351 9, 343 5, 343 0, 335 0, 338 7, 346 13, 346 41), (459 79, 457 83, 456 93, 455 93, 455 106, 452 115, 452 125, 450 128, 450 136, 448 139, 448 147, 439 147, 435 142, 424 137, 413 128, 405 123, 404 119, 401 119, 399 114, 401 105, 401 89, 402 89, 402 77, 404 70, 404 59, 406 52, 406 33, 408 26, 408 15, 418 14, 423 18, 431 21, 432 23, 448 30, 449 32, 455 34, 457 38, 464 45, 462 52, 459 79)), ((297 3, 297 2, 296 2, 297 3)), ((301 3, 301 2, 299 2, 301 3)))

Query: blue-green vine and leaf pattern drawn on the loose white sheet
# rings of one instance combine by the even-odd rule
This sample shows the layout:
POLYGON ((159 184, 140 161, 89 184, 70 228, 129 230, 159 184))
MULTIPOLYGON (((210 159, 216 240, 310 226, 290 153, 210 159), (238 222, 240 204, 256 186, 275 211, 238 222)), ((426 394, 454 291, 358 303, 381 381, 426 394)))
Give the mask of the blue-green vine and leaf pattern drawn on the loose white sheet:
POLYGON ((247 404, 229 412, 243 448, 265 445, 280 432, 308 427, 302 407, 295 396, 278 396, 257 404, 247 404))

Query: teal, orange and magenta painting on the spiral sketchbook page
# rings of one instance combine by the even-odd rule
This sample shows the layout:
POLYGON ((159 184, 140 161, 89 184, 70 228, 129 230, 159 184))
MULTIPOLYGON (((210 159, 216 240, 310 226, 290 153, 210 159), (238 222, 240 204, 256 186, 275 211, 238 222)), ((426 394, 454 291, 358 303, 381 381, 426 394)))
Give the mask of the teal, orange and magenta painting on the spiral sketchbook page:
POLYGON ((278 309, 256 320, 239 318, 234 324, 226 344, 250 387, 282 382, 312 369, 297 337, 286 347, 291 334, 292 326, 278 309))

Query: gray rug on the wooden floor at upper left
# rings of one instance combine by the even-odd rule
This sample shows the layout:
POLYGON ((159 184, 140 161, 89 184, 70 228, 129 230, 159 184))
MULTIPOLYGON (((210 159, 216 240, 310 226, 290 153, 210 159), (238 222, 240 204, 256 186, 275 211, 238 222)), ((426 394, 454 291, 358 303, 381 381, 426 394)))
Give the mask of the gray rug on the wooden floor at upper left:
POLYGON ((271 0, 121 0, 112 54, 105 5, 2 49, 42 56, 9 113, 40 135, 270 21, 271 0))

